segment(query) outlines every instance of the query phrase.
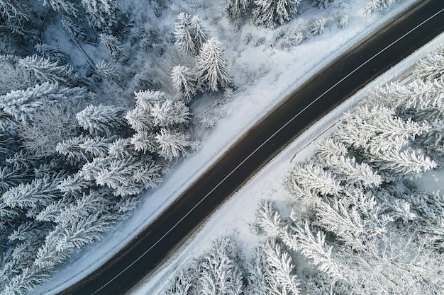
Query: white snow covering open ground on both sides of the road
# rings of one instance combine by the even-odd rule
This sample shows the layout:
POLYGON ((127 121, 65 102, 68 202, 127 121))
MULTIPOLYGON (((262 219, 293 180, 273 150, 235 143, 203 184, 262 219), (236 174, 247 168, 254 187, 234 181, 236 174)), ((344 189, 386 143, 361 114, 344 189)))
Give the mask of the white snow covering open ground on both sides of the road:
MULTIPOLYGON (((143 15, 143 11, 146 11, 149 7, 139 2, 143 1, 127 0, 123 7, 128 6, 134 11, 142 11, 140 13, 143 15)), ((30 294, 56 294, 106 262, 125 243, 137 236, 138 232, 155 219, 157 214, 167 208, 174 198, 198 175, 204 173, 214 159, 223 154, 230 144, 240 137, 240 134, 254 125, 262 115, 279 103, 292 89, 303 83, 306 77, 316 74, 319 69, 340 55, 345 49, 365 37, 384 21, 393 18, 397 13, 418 2, 418 0, 406 0, 402 1, 401 4, 396 3, 390 11, 375 16, 375 19, 371 21, 362 18, 360 15, 363 4, 359 2, 357 0, 336 0, 331 4, 334 7, 325 11, 311 8, 303 2, 305 6, 299 6, 299 10, 302 11, 304 18, 319 19, 321 14, 328 16, 340 12, 347 13, 349 16, 348 27, 340 30, 333 23, 326 27, 323 35, 311 37, 301 45, 291 47, 287 52, 265 50, 266 45, 245 46, 239 37, 250 32, 252 35, 268 35, 267 39, 270 39, 275 33, 272 30, 254 28, 247 24, 242 28, 242 32, 231 34, 233 29, 229 27, 225 19, 219 19, 215 23, 216 25, 210 28, 208 23, 214 23, 214 20, 218 19, 220 12, 217 11, 222 11, 221 7, 218 6, 219 4, 212 5, 212 1, 199 5, 196 1, 192 1, 194 6, 187 9, 193 9, 193 13, 198 13, 204 20, 205 28, 211 30, 209 35, 219 37, 228 48, 228 59, 232 61, 233 81, 248 83, 252 79, 254 82, 245 90, 235 93, 233 99, 223 105, 222 111, 226 113, 226 117, 219 120, 213 129, 201 132, 201 149, 187 157, 180 165, 175 166, 155 191, 147 192, 143 196, 143 202, 135 209, 130 219, 118 224, 116 231, 111 231, 99 243, 89 245, 74 255, 74 258, 67 263, 65 268, 57 272, 49 282, 41 285, 30 294), (252 72, 257 72, 257 76, 251 77, 246 74, 252 72), (266 74, 262 75, 261 73, 266 74)), ((176 12, 187 11, 182 6, 184 1, 176 1, 174 6, 176 5, 177 7, 172 7, 172 10, 176 12)), ((176 15, 175 12, 170 13, 170 18, 165 18, 164 21, 174 23, 176 15)), ((201 229, 194 233, 186 245, 182 245, 172 258, 150 277, 145 278, 144 282, 141 282, 131 294, 158 294, 176 270, 187 264, 202 251, 210 248, 212 241, 218 236, 235 238, 240 247, 247 253, 248 259, 248 254, 252 253, 252 249, 257 243, 257 236, 248 230, 248 225, 255 220, 254 214, 257 202, 262 198, 267 199, 273 196, 273 198, 277 198, 277 206, 284 209, 287 192, 282 188, 282 179, 296 161, 304 161, 304 159, 311 156, 314 142, 328 134, 338 116, 363 98, 368 88, 404 77, 406 73, 409 73, 416 60, 423 57, 428 49, 438 46, 443 40, 444 35, 433 40, 423 50, 412 54, 404 62, 387 71, 386 74, 370 83, 353 98, 350 98, 326 117, 323 117, 322 120, 316 122, 265 168, 262 168, 228 202, 224 203, 201 226, 201 229)), ((194 114, 194 116, 196 115, 199 115, 199 112, 194 114)), ((444 176, 427 175, 427 177, 433 180, 435 178, 442 179, 444 176)), ((426 179, 426 176, 424 179, 426 179)))

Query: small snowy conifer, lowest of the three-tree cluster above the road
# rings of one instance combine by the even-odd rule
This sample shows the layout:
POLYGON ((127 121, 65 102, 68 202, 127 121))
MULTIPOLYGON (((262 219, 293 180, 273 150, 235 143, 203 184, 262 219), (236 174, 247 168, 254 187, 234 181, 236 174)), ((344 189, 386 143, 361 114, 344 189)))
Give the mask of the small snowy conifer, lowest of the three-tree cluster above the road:
POLYGON ((198 78, 196 72, 187 66, 174 66, 171 73, 172 85, 185 102, 189 103, 197 93, 198 78))

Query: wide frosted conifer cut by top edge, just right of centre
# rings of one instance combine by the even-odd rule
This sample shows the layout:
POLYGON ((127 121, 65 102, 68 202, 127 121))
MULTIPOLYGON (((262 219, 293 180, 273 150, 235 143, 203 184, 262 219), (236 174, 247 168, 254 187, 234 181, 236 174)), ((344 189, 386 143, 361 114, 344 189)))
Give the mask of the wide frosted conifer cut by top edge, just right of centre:
POLYGON ((296 6, 301 0, 255 0, 252 21, 255 25, 274 28, 282 25, 297 12, 296 6))

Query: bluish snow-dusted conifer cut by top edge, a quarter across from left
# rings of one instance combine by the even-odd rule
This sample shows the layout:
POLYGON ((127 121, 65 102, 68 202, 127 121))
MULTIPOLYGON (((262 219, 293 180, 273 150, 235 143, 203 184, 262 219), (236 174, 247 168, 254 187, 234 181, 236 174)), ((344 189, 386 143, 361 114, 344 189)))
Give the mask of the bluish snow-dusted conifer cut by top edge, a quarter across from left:
POLYGON ((118 0, 82 0, 81 3, 91 27, 97 32, 109 32, 116 25, 120 14, 118 0))

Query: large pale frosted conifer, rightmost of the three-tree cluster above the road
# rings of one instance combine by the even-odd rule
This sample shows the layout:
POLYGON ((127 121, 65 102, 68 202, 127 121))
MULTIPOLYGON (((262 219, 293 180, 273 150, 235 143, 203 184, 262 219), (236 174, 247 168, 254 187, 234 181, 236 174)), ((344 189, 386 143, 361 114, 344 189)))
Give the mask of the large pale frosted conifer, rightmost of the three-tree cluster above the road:
POLYGON ((197 57, 196 70, 201 82, 211 91, 218 86, 225 87, 230 83, 230 69, 225 57, 225 47, 216 37, 212 37, 201 48, 197 57))

